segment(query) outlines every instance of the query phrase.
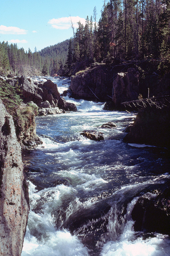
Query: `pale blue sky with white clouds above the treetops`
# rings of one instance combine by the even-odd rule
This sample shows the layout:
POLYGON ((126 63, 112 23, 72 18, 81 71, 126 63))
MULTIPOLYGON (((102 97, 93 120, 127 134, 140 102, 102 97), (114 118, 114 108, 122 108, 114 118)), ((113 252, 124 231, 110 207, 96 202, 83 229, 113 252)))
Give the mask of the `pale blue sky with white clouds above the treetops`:
POLYGON ((104 0, 1 0, 0 42, 17 43, 24 50, 41 50, 73 36, 70 16, 76 24, 101 16, 104 0))

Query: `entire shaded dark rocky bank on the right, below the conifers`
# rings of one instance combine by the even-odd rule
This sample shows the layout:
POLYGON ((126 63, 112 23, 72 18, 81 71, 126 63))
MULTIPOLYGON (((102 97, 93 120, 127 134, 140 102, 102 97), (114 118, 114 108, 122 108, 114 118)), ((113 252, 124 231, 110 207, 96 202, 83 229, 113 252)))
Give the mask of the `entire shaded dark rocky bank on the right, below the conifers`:
MULTIPOLYGON (((106 110, 125 110, 122 102, 147 98, 148 93, 149 97, 170 95, 170 74, 160 79, 156 72, 144 71, 141 67, 101 64, 72 76, 70 88, 75 98, 106 101, 106 110)), ((166 103, 162 109, 129 107, 129 111, 136 110, 139 114, 124 141, 169 146, 169 102, 166 103)))

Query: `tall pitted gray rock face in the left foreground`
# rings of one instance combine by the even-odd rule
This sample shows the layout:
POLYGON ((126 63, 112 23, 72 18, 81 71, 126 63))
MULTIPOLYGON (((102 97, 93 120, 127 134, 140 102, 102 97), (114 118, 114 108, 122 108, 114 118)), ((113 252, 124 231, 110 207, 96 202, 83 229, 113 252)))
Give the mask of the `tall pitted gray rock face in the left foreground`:
POLYGON ((21 147, 0 100, 0 255, 20 256, 29 213, 21 147))

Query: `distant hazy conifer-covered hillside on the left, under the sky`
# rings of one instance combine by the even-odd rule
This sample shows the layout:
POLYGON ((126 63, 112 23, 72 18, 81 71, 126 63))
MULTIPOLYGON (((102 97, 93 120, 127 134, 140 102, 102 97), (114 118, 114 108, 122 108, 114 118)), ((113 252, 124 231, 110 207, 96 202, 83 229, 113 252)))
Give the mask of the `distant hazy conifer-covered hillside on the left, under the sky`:
POLYGON ((24 69, 37 69, 43 75, 53 75, 63 71, 66 62, 69 40, 49 46, 41 51, 28 52, 18 48, 17 44, 0 42, 1 72, 11 71, 14 75, 23 74, 24 69))

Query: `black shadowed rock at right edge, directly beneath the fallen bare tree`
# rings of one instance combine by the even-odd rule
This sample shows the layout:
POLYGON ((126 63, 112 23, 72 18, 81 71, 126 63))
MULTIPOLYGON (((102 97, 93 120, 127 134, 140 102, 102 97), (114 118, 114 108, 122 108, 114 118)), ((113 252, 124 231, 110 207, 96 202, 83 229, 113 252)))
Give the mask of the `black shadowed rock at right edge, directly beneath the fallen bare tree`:
POLYGON ((170 107, 142 108, 127 132, 124 142, 169 147, 170 107))

